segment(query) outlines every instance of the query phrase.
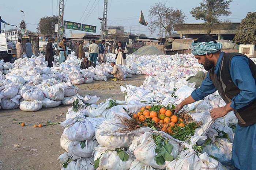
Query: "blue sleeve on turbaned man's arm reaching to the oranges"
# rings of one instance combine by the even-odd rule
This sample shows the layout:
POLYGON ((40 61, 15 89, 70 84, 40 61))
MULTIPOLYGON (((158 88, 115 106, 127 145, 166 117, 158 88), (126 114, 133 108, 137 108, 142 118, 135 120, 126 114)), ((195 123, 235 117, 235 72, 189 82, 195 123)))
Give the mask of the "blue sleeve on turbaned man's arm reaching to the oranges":
POLYGON ((207 76, 202 82, 200 88, 194 90, 191 93, 191 97, 195 101, 199 101, 202 100, 204 97, 208 96, 209 94, 216 92, 216 90, 217 89, 215 88, 213 82, 210 79, 209 73, 207 73, 207 76))

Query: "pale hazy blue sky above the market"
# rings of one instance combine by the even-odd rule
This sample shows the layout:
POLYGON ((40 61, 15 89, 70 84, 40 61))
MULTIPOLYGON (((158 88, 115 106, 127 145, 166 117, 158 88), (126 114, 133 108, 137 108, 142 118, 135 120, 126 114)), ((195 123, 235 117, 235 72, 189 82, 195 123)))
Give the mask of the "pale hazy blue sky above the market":
MULTIPOLYGON (((44 16, 58 14, 57 3, 59 0, 1 0, 0 15, 3 20, 10 24, 19 26, 25 11, 25 22, 27 29, 36 31, 39 19, 44 16)), ((202 20, 195 20, 189 13, 202 0, 166 0, 169 7, 181 9, 187 15, 187 23, 200 23, 202 20)), ((98 17, 103 15, 104 0, 65 0, 64 20, 79 22, 97 26, 97 34, 101 27, 98 17), (89 5, 88 5, 89 4, 89 5), (88 7, 87 7, 88 5, 88 7), (87 9, 86 9, 87 7, 87 9), (84 10, 86 11, 84 12, 84 10), (83 15, 84 13, 84 15, 83 15)), ((143 33, 151 37, 157 37, 157 32, 150 34, 147 26, 138 23, 140 11, 143 11, 145 20, 148 20, 148 10, 151 5, 159 0, 108 0, 108 26, 124 26, 124 31, 143 33)), ((256 0, 233 0, 230 3, 229 17, 220 19, 230 19, 231 22, 241 22, 247 12, 256 10, 256 0)), ((3 27, 3 26, 2 26, 3 27)), ((66 30, 69 35, 71 30, 66 30)), ((80 31, 73 31, 79 33, 80 31)), ((81 31, 82 32, 82 31, 81 31)), ((88 32, 89 33, 89 32, 88 32)))

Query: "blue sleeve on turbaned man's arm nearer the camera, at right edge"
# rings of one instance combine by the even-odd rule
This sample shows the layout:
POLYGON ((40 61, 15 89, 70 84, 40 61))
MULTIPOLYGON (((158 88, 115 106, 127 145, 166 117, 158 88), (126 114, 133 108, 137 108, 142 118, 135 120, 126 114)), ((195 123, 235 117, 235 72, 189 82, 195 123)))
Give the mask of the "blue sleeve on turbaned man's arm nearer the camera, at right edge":
POLYGON ((234 84, 241 90, 237 96, 232 98, 230 107, 237 110, 252 103, 256 98, 256 85, 248 58, 233 57, 230 63, 230 76, 234 84))

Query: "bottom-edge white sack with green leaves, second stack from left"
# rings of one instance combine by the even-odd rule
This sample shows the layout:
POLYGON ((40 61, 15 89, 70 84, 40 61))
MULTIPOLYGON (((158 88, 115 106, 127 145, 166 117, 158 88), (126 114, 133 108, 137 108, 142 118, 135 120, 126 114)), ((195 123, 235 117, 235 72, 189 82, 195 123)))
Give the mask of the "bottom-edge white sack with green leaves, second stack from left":
MULTIPOLYGON (((129 155, 128 161, 122 161, 115 148, 112 147, 96 147, 94 161, 99 158, 99 168, 109 170, 129 170, 133 158, 129 155)), ((126 151, 125 151, 126 152, 126 151)), ((127 152, 126 152, 127 153, 127 152)))

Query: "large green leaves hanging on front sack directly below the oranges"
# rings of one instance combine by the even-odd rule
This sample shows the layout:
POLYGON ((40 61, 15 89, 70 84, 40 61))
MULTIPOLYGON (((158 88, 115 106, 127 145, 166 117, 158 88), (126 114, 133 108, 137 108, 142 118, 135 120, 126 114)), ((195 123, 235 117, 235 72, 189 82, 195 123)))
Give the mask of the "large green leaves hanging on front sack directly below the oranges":
POLYGON ((168 143, 168 140, 163 139, 161 136, 152 135, 152 137, 157 144, 155 148, 155 152, 157 153, 157 155, 155 155, 155 162, 157 162, 157 165, 163 165, 165 161, 172 161, 172 144, 168 143))

